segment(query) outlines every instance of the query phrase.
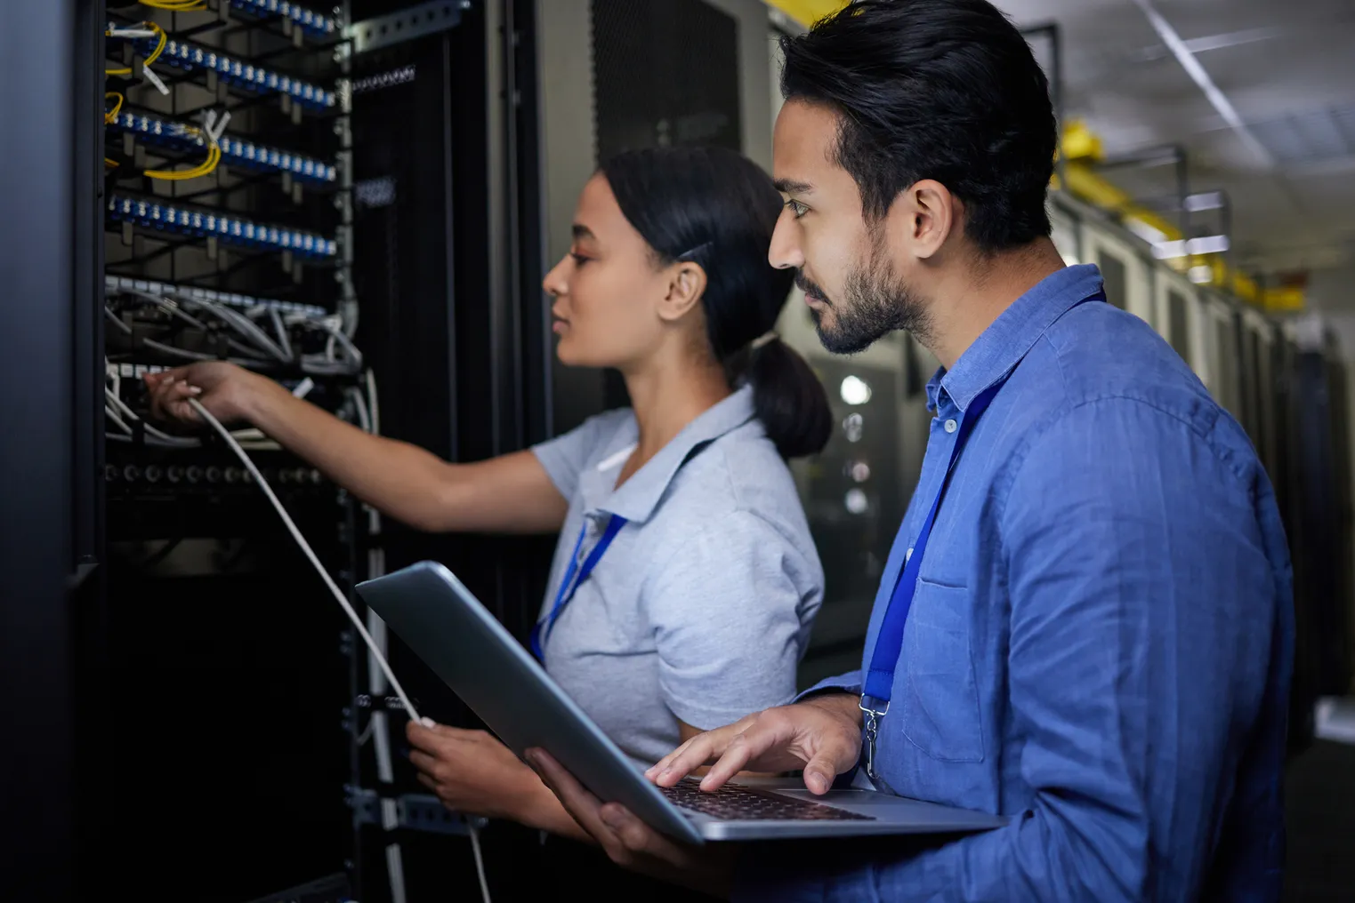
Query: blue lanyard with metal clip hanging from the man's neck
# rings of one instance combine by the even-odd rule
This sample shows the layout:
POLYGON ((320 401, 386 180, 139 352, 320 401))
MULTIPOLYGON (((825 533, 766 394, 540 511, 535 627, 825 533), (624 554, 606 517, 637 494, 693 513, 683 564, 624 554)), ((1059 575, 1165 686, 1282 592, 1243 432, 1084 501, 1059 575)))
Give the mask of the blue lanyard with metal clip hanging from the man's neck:
MULTIPOLYGON (((1106 294, 1098 291, 1079 303, 1104 299, 1106 294)), ((1009 375, 1011 372, 1007 374, 1007 376, 1009 375)), ((936 523, 936 512, 940 510, 940 501, 946 497, 946 487, 950 486, 950 478, 955 472, 955 462, 959 460, 959 452, 963 451, 965 443, 974 432, 978 418, 984 416, 988 405, 992 403, 999 390, 1007 383, 1007 376, 1003 376, 980 393, 969 403, 969 410, 961 418, 959 433, 955 436, 955 447, 950 449, 950 464, 946 467, 946 475, 942 477, 940 489, 936 490, 936 500, 932 502, 931 510, 927 512, 923 528, 917 532, 913 550, 908 554, 908 560, 898 575, 898 582, 894 583, 894 592, 889 597, 889 607, 885 609, 885 617, 879 624, 879 634, 875 635, 875 651, 871 653, 870 670, 866 671, 866 686, 860 695, 860 711, 864 713, 866 728, 866 774, 871 780, 878 780, 879 777, 875 773, 875 738, 879 734, 879 719, 889 712, 889 699, 894 692, 894 669, 898 666, 898 655, 904 648, 904 625, 908 623, 908 612, 913 607, 913 594, 917 592, 917 574, 923 566, 923 555, 927 554, 927 540, 931 539, 931 531, 936 523)))

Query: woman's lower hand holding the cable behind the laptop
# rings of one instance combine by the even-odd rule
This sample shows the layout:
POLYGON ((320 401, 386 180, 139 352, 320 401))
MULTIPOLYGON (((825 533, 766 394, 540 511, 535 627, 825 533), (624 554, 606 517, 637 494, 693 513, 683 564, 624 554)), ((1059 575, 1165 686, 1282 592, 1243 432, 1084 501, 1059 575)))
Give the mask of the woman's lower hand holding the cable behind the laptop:
POLYGON ((485 731, 409 722, 405 736, 419 783, 450 810, 531 824, 533 808, 550 797, 535 772, 485 731))

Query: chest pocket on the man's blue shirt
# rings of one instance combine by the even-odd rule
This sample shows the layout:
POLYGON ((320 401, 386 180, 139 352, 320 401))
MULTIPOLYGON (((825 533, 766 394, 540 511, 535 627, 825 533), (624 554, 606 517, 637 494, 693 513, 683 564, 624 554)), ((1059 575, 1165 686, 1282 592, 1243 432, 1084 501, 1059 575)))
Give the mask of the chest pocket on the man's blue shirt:
POLYGON ((940 762, 984 759, 969 623, 969 589, 917 581, 904 632, 900 728, 940 762))

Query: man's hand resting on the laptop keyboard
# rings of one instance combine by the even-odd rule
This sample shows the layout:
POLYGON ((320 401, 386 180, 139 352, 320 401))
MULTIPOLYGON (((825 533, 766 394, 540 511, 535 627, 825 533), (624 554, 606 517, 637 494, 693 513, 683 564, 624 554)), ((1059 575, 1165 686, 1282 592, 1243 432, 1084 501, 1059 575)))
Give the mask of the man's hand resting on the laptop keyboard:
POLYGON ((713 791, 745 769, 789 772, 802 768, 805 787, 821 795, 859 757, 856 696, 824 693, 698 734, 661 758, 645 777, 660 787, 672 787, 702 765, 714 762, 701 780, 701 789, 713 791))

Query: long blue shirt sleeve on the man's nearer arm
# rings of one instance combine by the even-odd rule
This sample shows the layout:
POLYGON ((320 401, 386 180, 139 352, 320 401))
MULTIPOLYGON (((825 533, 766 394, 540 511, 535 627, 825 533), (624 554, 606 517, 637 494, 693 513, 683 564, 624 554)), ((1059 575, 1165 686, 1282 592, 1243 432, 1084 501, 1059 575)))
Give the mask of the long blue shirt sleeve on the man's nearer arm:
MULTIPOLYGON (((753 850, 736 899, 1201 892, 1243 750, 1271 732, 1283 741, 1257 727, 1267 695, 1287 693, 1287 598, 1272 570, 1285 552, 1267 548, 1255 500, 1272 504, 1252 462, 1221 459, 1146 403, 1065 414, 1019 464, 1000 516, 1008 718, 1024 738, 1008 751, 1034 788, 1028 807, 932 849, 896 838, 831 857, 753 850)), ((1266 792, 1279 777, 1276 765, 1266 792)), ((1280 837, 1272 826, 1268 842, 1280 837)), ((1270 877, 1248 899, 1278 899, 1270 877)))

